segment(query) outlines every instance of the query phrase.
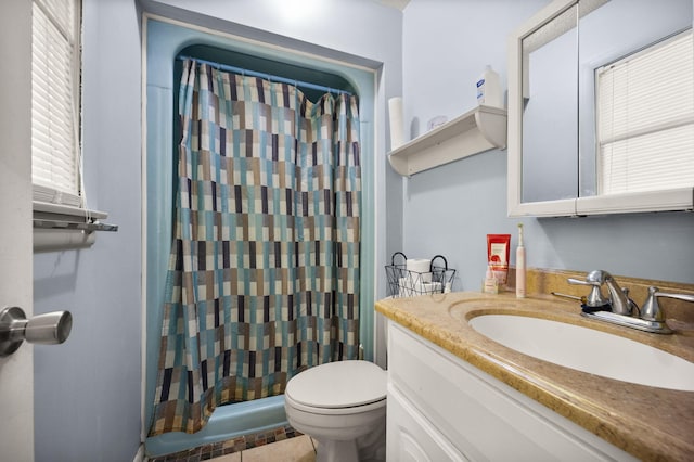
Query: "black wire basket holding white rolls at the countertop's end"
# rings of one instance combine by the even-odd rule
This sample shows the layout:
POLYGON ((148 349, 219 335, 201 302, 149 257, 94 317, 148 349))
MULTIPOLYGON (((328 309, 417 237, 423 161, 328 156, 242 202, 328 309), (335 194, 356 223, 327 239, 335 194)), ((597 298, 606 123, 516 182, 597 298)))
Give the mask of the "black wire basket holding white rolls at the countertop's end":
POLYGON ((386 265, 388 295, 393 297, 413 297, 451 291, 455 270, 448 268, 448 261, 442 255, 432 258, 428 272, 408 270, 407 259, 408 257, 402 252, 396 252, 390 258, 390 265, 386 265), (398 256, 402 257, 402 264, 395 262, 398 256), (438 259, 444 261, 442 267, 435 265, 438 259))

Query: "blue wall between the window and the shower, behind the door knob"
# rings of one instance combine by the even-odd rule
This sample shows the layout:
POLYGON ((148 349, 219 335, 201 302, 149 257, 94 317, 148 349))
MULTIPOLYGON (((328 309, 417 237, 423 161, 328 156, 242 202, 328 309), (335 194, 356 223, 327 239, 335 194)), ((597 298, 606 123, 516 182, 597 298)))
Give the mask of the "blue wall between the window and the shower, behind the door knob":
POLYGON ((65 344, 35 347, 37 461, 131 461, 140 444, 139 24, 132 1, 83 1, 88 205, 119 230, 35 255, 35 313, 74 319, 65 344))

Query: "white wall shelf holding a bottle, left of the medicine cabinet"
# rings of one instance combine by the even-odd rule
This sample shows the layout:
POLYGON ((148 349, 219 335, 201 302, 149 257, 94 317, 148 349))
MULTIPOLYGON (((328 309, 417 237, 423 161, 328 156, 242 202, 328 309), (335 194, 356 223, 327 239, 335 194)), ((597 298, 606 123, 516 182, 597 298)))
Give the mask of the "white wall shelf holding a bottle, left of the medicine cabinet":
POLYGON ((402 176, 448 164, 494 147, 506 146, 506 111, 477 106, 395 149, 390 166, 402 176))

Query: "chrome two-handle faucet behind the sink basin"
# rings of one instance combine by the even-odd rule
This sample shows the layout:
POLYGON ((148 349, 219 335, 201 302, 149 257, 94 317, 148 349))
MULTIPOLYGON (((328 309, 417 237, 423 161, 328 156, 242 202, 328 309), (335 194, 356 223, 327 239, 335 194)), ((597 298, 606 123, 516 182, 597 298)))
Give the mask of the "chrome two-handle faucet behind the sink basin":
POLYGON ((646 301, 639 310, 639 306, 629 298, 629 291, 619 287, 615 278, 603 270, 589 272, 584 281, 569 278, 568 283, 591 286, 591 292, 586 299, 581 315, 658 334, 672 333, 665 323, 665 315, 658 305, 658 297, 678 298, 694 303, 694 295, 659 292, 658 287, 652 286, 648 287, 646 301), (607 298, 602 294, 601 287, 603 285, 607 286, 609 293, 607 298))

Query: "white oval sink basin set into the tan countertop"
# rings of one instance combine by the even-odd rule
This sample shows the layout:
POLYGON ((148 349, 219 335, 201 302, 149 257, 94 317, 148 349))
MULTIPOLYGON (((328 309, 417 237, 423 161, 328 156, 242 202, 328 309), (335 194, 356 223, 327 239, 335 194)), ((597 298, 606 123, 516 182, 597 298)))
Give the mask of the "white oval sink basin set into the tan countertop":
POLYGON ((694 363, 667 351, 593 329, 513 315, 483 315, 470 325, 525 355, 603 377, 694 390, 694 363))

